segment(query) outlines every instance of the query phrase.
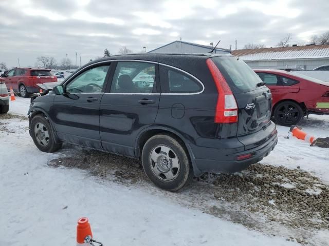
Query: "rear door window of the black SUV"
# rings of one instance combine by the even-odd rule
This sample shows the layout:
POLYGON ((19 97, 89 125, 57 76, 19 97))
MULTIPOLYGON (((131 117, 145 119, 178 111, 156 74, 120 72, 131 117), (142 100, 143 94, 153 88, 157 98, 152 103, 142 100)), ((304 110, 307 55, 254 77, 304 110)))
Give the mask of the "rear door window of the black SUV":
POLYGON ((138 61, 119 61, 113 76, 112 93, 152 93, 155 65, 138 61))

